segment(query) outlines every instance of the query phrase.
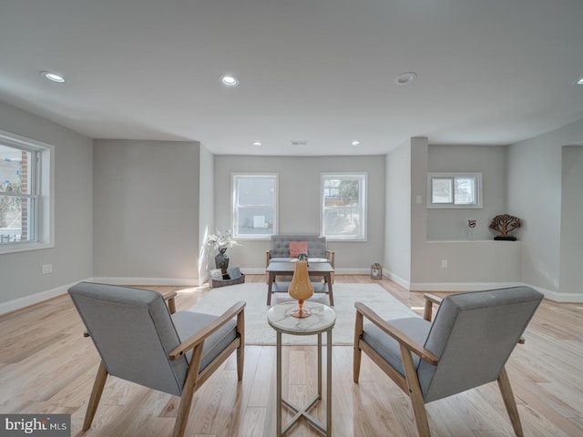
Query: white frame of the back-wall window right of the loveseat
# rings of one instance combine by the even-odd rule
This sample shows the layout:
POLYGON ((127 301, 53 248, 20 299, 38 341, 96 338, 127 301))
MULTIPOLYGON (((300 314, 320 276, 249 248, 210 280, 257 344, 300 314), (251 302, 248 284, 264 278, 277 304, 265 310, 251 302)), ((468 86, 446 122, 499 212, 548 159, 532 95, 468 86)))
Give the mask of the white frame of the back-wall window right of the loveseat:
POLYGON ((328 241, 366 241, 367 240, 367 217, 368 217, 368 202, 367 200, 367 186, 368 186, 368 172, 365 171, 351 171, 351 172, 334 172, 334 173, 321 173, 320 181, 320 233, 322 236, 326 237, 328 241), (325 202, 324 202, 324 182, 328 179, 356 179, 359 181, 359 200, 360 204, 358 206, 359 214, 361 216, 361 227, 360 232, 357 235, 347 236, 347 235, 337 235, 337 234, 327 234, 324 218, 325 214, 325 202))

